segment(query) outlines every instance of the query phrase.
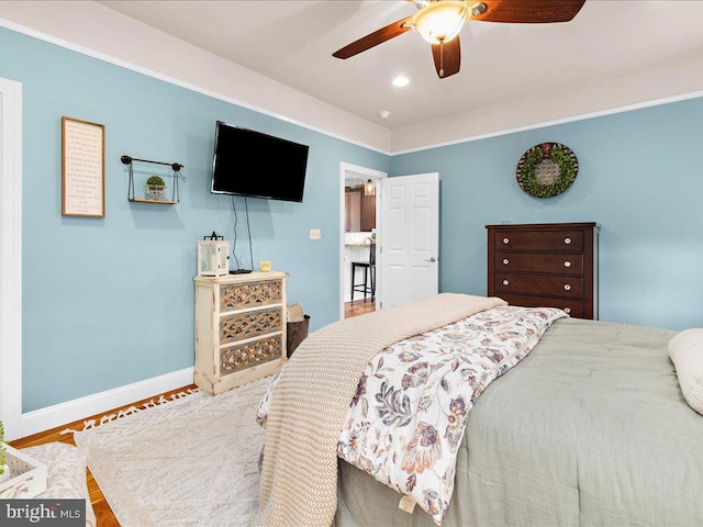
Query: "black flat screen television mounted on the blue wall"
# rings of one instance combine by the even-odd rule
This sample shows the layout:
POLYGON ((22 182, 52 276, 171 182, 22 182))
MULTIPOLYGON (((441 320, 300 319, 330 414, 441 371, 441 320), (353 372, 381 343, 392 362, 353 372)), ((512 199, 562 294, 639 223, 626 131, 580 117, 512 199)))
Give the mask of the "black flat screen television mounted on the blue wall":
POLYGON ((308 150, 306 145, 217 121, 211 192, 301 203, 308 150))

